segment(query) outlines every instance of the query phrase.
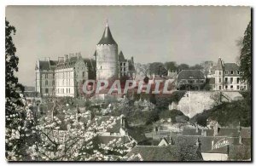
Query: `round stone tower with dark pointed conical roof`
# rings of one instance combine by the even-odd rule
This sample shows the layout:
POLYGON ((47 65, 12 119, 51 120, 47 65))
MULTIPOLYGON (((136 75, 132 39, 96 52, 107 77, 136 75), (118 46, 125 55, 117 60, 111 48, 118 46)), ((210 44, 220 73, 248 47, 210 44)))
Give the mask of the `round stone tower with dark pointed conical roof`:
POLYGON ((118 75, 118 44, 111 35, 108 22, 102 39, 96 45, 96 79, 108 79, 118 75))

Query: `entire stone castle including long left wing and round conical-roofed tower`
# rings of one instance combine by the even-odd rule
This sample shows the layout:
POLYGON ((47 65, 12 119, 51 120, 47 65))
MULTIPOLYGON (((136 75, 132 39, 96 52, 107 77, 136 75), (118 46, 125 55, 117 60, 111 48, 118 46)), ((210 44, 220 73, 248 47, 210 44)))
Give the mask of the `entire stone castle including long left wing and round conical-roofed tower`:
POLYGON ((65 54, 58 60, 37 60, 36 92, 42 97, 79 97, 79 91, 88 79, 132 77, 135 72, 133 57, 126 60, 123 52, 119 52, 108 23, 93 56, 93 59, 84 59, 80 53, 75 53, 65 54))

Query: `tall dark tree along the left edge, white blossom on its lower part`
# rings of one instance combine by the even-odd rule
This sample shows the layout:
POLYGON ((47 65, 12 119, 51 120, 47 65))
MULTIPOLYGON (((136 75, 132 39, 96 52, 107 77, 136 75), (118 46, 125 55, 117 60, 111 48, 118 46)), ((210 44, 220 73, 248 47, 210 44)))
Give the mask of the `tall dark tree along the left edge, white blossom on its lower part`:
POLYGON ((33 120, 31 110, 25 107, 26 100, 22 97, 24 87, 15 77, 19 63, 12 38, 15 32, 15 26, 5 20, 5 155, 8 160, 21 160, 24 157, 26 137, 30 136, 28 127, 33 120))

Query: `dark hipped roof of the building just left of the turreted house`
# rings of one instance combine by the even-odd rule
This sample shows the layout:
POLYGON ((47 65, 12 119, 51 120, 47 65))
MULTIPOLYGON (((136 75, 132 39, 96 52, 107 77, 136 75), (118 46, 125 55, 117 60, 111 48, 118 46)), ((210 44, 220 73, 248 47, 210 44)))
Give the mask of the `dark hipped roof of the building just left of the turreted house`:
POLYGON ((200 70, 183 70, 178 73, 177 79, 205 79, 205 76, 200 70))

